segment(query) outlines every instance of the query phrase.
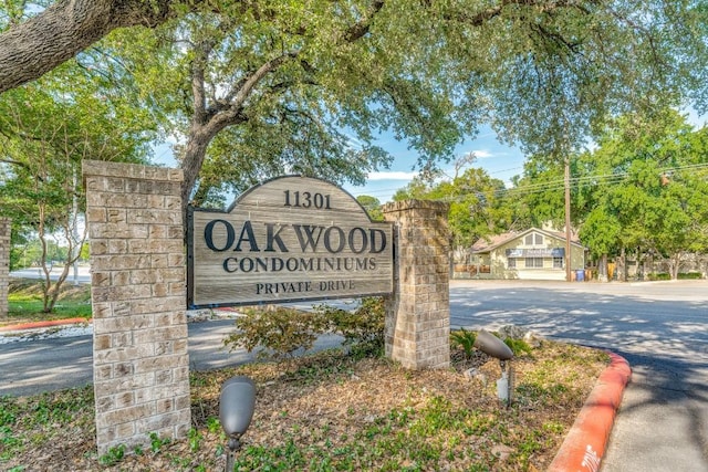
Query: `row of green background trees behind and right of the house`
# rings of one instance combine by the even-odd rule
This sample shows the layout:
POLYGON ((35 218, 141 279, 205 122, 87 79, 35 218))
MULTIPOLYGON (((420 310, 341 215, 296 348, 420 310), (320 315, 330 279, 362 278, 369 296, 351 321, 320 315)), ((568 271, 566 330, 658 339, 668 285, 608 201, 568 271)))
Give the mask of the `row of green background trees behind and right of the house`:
MULTIPOLYGON (((607 120, 592 150, 572 153, 571 221, 581 242, 607 274, 608 259, 642 266, 667 262, 676 279, 688 256, 708 252, 708 128, 695 129, 673 108, 607 120)), ((473 164, 473 162, 472 162, 473 164)), ((454 178, 417 178, 394 199, 450 202, 456 247, 507 231, 565 220, 563 166, 554 156, 529 156, 507 188, 482 169, 454 178)))

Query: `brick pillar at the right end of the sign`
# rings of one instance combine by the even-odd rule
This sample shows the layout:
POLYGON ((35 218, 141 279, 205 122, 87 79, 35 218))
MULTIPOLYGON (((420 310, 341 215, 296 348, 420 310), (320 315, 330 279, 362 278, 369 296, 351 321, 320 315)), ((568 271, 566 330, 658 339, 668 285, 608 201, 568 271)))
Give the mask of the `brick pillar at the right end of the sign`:
POLYGON ((406 368, 450 365, 448 204, 387 203, 394 223, 394 294, 386 301, 386 356, 406 368))

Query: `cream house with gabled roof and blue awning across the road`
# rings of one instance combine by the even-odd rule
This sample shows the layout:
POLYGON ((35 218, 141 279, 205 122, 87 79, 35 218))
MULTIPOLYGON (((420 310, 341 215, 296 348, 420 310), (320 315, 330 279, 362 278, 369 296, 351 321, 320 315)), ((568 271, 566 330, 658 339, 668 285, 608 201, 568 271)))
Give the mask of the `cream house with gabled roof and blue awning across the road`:
MULTIPOLYGON (((565 233, 531 228, 523 232, 480 239, 467 264, 456 265, 456 279, 565 280, 565 233), (462 270, 460 270, 462 269, 462 270)), ((577 235, 571 238, 573 279, 585 279, 585 248, 577 235)))

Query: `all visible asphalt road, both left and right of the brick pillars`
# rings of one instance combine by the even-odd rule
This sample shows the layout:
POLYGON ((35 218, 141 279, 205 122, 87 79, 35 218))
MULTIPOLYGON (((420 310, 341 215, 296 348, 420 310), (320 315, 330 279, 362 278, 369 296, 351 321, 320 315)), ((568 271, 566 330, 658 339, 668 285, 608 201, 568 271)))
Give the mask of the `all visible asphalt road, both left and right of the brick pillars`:
MULTIPOLYGON (((470 329, 514 324, 622 355, 634 373, 603 472, 708 471, 708 281, 452 281, 450 324, 470 329)), ((231 325, 189 325, 191 368, 250 359, 221 349, 231 325)), ((319 347, 336 343, 323 339, 319 347)), ((91 382, 91 344, 83 336, 0 345, 0 395, 91 382)))

